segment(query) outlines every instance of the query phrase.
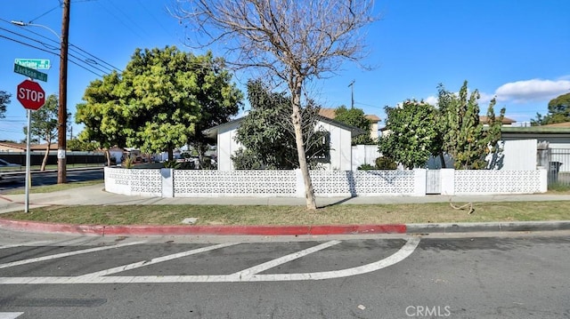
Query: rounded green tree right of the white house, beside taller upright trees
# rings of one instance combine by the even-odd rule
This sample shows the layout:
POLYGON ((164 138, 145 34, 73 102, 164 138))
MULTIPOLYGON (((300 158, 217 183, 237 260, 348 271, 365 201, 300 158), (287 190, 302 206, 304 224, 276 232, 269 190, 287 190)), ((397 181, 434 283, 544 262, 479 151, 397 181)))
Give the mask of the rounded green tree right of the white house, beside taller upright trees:
POLYGON ((437 148, 436 108, 423 101, 406 100, 401 107, 385 109, 389 132, 379 139, 382 156, 408 169, 424 167, 437 148))

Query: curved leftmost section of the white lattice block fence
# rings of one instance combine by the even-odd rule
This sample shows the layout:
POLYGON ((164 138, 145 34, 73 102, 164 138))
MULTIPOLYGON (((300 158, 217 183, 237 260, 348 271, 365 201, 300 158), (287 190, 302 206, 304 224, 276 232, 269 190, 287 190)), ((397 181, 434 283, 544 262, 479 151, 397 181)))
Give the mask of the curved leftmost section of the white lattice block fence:
POLYGON ((105 167, 105 190, 123 195, 161 196, 160 170, 126 170, 105 167))

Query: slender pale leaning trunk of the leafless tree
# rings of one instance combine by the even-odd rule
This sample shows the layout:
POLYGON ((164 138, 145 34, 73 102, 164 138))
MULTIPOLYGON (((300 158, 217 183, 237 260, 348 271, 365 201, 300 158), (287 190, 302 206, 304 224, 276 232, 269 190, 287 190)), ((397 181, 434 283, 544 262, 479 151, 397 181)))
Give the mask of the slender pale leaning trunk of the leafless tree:
POLYGON ((301 84, 301 82, 297 81, 296 88, 292 94, 293 114, 291 115, 291 121, 293 122, 293 128, 295 130, 299 168, 303 174, 303 181, 305 182, 306 208, 314 211, 317 209, 317 204, 314 199, 313 180, 309 174, 309 166, 306 163, 305 143, 303 142, 303 130, 301 128, 301 84))

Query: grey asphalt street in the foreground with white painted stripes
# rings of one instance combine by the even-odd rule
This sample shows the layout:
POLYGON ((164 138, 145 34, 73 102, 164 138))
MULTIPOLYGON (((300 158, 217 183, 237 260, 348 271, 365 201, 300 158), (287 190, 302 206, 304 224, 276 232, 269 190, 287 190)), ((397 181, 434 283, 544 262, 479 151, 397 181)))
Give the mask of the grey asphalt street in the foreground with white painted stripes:
POLYGON ((569 232, 0 235, 2 319, 570 318, 569 232))

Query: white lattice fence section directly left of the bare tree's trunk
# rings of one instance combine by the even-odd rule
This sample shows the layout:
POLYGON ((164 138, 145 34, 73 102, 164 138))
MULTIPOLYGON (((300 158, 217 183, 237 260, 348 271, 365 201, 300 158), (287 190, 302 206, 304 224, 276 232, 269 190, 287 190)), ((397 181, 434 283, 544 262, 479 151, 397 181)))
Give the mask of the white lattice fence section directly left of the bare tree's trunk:
POLYGON ((174 171, 175 197, 296 196, 296 171, 174 171))

